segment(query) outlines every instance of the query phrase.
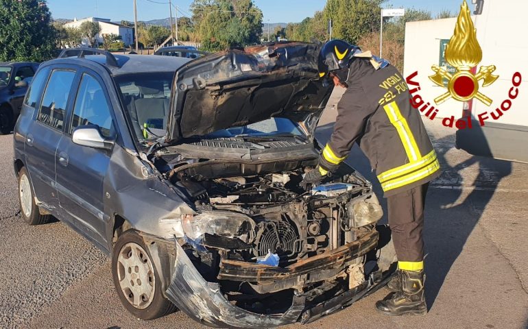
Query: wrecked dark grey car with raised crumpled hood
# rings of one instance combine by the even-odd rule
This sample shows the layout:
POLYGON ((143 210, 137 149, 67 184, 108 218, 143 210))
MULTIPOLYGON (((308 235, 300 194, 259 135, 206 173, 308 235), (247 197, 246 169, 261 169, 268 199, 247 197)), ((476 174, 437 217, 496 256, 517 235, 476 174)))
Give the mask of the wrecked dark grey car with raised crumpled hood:
POLYGON ((343 165, 300 186, 332 92, 317 45, 191 61, 94 53, 40 66, 14 167, 23 219, 53 215, 111 256, 135 317, 307 323, 389 280, 396 256, 370 182, 343 165))

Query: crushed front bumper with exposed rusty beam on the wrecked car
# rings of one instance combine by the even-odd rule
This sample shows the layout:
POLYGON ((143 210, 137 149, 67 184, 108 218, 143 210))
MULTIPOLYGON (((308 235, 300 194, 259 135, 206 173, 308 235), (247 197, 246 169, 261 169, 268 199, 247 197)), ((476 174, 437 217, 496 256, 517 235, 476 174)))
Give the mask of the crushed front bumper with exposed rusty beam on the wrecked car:
MULTIPOLYGON (((238 268, 239 271, 244 271, 246 275, 257 273, 267 273, 267 275, 274 277, 275 280, 287 280, 291 276, 298 276, 304 273, 305 269, 313 268, 317 271, 320 269, 320 265, 324 266, 338 266, 338 263, 343 263, 344 258, 357 258, 365 255, 367 252, 376 247, 378 243, 378 236, 376 232, 376 239, 364 239, 363 242, 355 241, 348 245, 335 249, 331 252, 326 252, 328 257, 318 257, 313 261, 305 262, 301 267, 296 266, 293 269, 278 269, 276 267, 262 267, 262 265, 256 265, 252 267, 248 273, 247 268, 238 268), (372 245, 374 243, 374 245, 372 245), (347 250, 347 251, 345 251, 347 250), (264 271, 259 271, 264 269, 264 271), (302 271, 299 271, 299 270, 302 271), (281 273, 274 273, 274 271, 280 271, 281 273)), ((361 239, 360 239, 361 240, 361 239)), ((389 249, 392 247, 392 243, 387 245, 389 249)), ((322 255, 325 255, 322 254, 322 255)), ((386 256, 385 260, 381 260, 387 264, 394 260, 394 257, 386 256)), ((321 255, 320 255, 321 256, 321 255)), ((314 257, 315 258, 315 257, 314 257)), ((171 300, 180 310, 187 313, 189 317, 196 321, 206 324, 208 326, 219 327, 219 328, 270 328, 275 326, 281 326, 285 324, 293 324, 298 321, 307 323, 314 321, 319 317, 335 313, 342 308, 349 306, 361 297, 368 295, 380 287, 383 287, 385 283, 392 277, 394 273, 394 266, 389 270, 387 264, 381 266, 379 264, 379 270, 373 271, 370 275, 369 280, 365 280, 362 284, 354 289, 350 289, 341 295, 337 295, 329 300, 326 300, 317 305, 307 305, 306 297, 302 293, 295 293, 291 306, 285 313, 263 315, 252 313, 243 308, 239 308, 231 304, 224 294, 220 290, 220 286, 217 283, 207 282, 204 280, 200 272, 197 271, 191 260, 187 257, 182 247, 176 243, 176 260, 173 267, 173 275, 171 282, 165 295, 171 300)), ((235 270, 233 264, 230 267, 235 270)), ((238 273, 241 274, 241 273, 238 273)), ((266 276, 266 274, 265 274, 266 276)), ((249 280, 249 278, 248 278, 249 280)))

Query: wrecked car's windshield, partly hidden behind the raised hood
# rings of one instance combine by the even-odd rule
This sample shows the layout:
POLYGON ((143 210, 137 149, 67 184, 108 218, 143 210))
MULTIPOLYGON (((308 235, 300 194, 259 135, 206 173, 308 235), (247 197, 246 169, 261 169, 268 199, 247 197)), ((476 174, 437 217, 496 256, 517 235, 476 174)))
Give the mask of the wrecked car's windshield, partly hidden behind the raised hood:
MULTIPOLYGON (((167 118, 173 73, 136 73, 115 78, 126 106, 126 115, 140 143, 167 134, 167 118)), ((204 138, 243 136, 304 136, 295 123, 285 118, 271 118, 250 125, 218 130, 204 138)))

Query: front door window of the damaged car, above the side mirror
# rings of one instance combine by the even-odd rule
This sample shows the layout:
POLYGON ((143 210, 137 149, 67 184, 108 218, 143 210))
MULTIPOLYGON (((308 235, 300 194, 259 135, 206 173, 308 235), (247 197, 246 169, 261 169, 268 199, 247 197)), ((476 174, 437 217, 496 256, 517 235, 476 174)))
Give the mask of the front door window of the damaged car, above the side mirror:
POLYGON ((94 77, 84 73, 75 98, 71 129, 82 125, 98 125, 101 134, 111 137, 112 116, 103 87, 94 77))

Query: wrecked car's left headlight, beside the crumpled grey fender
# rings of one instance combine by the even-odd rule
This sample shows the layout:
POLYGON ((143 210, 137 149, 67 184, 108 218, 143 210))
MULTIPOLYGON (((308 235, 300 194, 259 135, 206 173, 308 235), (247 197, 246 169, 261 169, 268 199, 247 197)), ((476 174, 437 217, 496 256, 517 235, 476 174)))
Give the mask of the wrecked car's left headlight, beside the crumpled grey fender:
POLYGON ((231 211, 208 211, 182 217, 185 235, 196 240, 205 233, 238 238, 245 243, 254 239, 255 223, 251 217, 231 211))

